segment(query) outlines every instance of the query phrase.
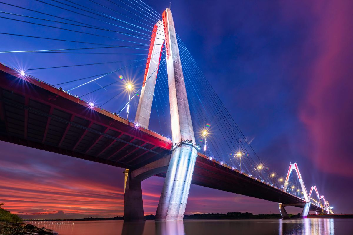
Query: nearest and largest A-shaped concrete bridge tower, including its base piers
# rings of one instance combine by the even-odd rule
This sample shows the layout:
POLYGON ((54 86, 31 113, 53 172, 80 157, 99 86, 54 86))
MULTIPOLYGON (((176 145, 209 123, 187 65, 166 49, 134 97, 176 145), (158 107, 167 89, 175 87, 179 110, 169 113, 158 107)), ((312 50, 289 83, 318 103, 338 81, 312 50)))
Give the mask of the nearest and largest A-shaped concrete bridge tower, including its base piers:
POLYGON ((156 221, 183 220, 197 157, 197 149, 190 144, 191 141, 195 141, 195 135, 181 68, 177 35, 169 8, 163 12, 162 18, 163 23, 159 20, 153 29, 135 123, 148 128, 160 63, 161 44, 165 41, 172 140, 173 143, 177 143, 177 146, 169 157, 128 172, 124 219, 130 221, 144 220, 141 181, 163 171, 167 171, 167 174, 158 203, 156 221), (158 51, 160 51, 159 54, 158 51), (186 140, 188 140, 187 143, 186 140))

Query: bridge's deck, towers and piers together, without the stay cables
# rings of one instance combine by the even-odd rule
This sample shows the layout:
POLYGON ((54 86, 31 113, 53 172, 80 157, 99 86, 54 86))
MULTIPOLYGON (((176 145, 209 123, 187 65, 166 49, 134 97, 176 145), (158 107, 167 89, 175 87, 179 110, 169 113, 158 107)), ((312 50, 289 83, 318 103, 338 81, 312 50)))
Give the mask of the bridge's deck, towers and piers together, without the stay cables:
POLYGON ((332 213, 316 186, 310 193, 306 191, 297 163, 290 164, 283 186, 276 187, 263 180, 261 166, 260 177, 255 177, 206 156, 206 144, 202 154, 195 143, 177 35, 168 8, 153 27, 149 46, 134 122, 0 64, 0 140, 125 168, 127 221, 144 220, 141 181, 154 175, 165 178, 157 221, 183 219, 190 184, 279 203, 283 218, 288 218, 285 206, 303 208, 301 217, 309 211, 332 213), (163 45, 173 141, 148 129, 163 45), (291 192, 288 186, 293 171, 300 184, 298 192, 291 192), (317 200, 311 198, 313 191, 317 200))

